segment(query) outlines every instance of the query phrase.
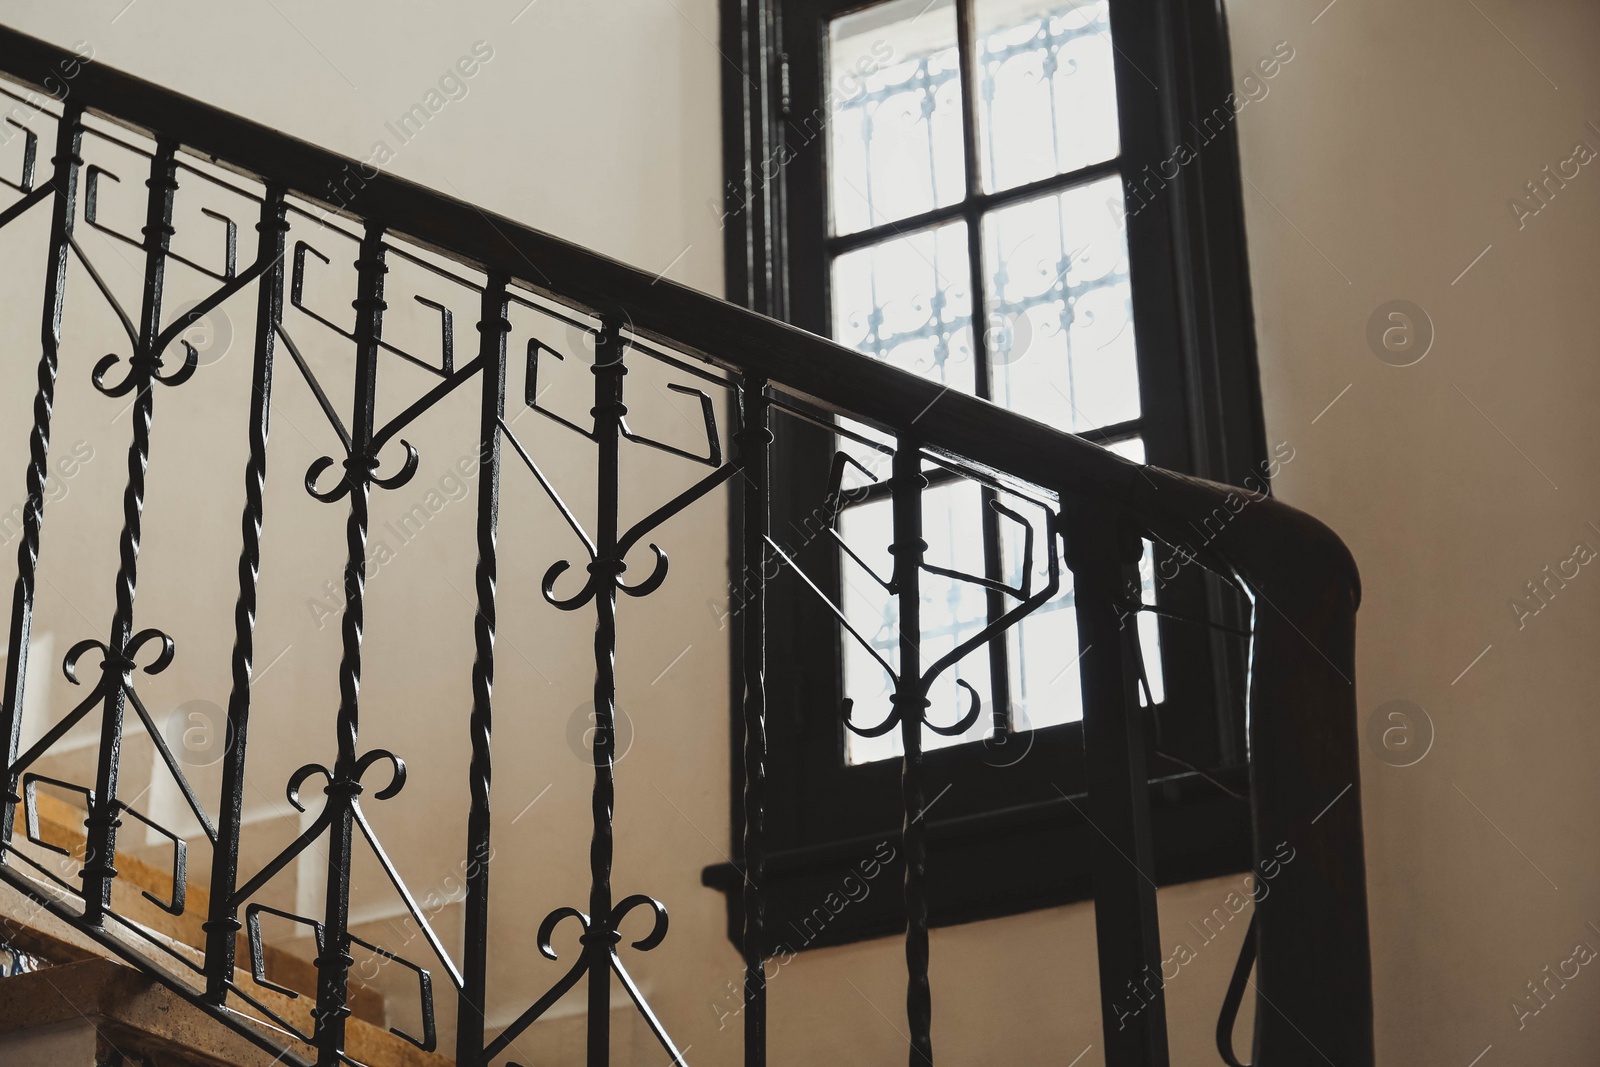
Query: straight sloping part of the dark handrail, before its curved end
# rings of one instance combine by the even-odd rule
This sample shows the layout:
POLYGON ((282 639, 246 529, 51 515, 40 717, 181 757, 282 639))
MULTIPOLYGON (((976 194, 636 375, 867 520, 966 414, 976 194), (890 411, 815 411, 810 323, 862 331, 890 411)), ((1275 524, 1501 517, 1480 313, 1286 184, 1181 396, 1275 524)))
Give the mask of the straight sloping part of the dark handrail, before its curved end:
POLYGON ((832 413, 885 430, 915 426, 923 445, 995 474, 1037 485, 1066 482, 1083 493, 1123 496, 1138 467, 1120 456, 984 400, 946 390, 893 366, 866 360, 834 341, 757 315, 565 242, 475 205, 395 178, 336 152, 240 118, 197 99, 35 37, 0 27, 0 67, 22 82, 66 85, 74 102, 141 133, 162 131, 250 178, 270 178, 291 192, 338 210, 330 190, 354 187, 344 213, 474 269, 501 270, 568 306, 598 314, 621 310, 642 336, 712 363, 765 376, 832 413), (62 82, 61 64, 78 62, 62 82), (371 178, 365 178, 371 174, 371 178), (1003 418, 1003 432, 995 419, 1003 418))

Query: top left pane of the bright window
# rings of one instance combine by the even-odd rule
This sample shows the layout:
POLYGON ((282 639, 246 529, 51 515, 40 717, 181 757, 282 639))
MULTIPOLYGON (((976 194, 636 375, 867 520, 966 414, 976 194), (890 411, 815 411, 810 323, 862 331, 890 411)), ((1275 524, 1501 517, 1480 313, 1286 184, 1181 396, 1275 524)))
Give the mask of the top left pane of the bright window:
POLYGON ((835 234, 960 202, 966 165, 954 0, 891 0, 834 19, 824 107, 835 234))

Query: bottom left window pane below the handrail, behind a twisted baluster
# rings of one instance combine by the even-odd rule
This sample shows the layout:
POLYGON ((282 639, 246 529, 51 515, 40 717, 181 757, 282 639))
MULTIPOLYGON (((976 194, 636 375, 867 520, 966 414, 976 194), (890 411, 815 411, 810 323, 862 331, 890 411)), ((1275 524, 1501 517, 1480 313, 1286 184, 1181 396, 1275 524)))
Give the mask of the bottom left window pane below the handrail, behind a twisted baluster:
MULTIPOLYGON (((982 498, 978 485, 957 482, 931 488, 922 498, 923 539, 928 552, 923 557, 934 566, 960 569, 970 574, 984 573, 982 560, 982 498)), ((883 577, 890 576, 891 558, 888 545, 894 541, 890 501, 874 501, 848 509, 840 517, 842 536, 883 577)), ((883 659, 899 662, 899 608, 882 585, 862 573, 861 566, 843 557, 842 600, 846 617, 861 630, 883 659)), ((922 665, 926 670, 960 641, 987 625, 989 598, 981 585, 960 582, 941 574, 922 576, 922 665)), ((850 635, 845 646, 845 696, 854 701, 851 720, 870 726, 890 713, 893 691, 883 667, 850 635)), ((928 720, 941 726, 960 721, 971 707, 971 696, 955 685, 957 678, 971 685, 984 712, 971 729, 955 737, 922 731, 923 749, 944 749, 966 741, 987 737, 994 728, 992 686, 989 680, 989 646, 968 653, 946 670, 928 693, 928 720)), ((845 758, 850 763, 890 760, 902 752, 899 729, 882 737, 859 737, 845 733, 845 758)))

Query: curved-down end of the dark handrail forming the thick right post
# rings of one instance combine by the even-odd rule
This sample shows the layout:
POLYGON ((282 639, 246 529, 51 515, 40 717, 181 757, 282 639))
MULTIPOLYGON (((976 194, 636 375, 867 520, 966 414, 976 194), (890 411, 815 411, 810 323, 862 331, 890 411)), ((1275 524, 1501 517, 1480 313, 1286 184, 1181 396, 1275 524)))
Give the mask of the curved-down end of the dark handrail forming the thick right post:
POLYGON ((1198 555, 1254 600, 1254 853, 1258 862, 1280 843, 1298 853, 1256 905, 1256 1062, 1371 1064, 1355 560, 1304 512, 1170 470, 1146 467, 1126 506, 1147 531, 1176 544, 1192 544, 1190 523, 1226 509, 1230 522, 1198 555))

